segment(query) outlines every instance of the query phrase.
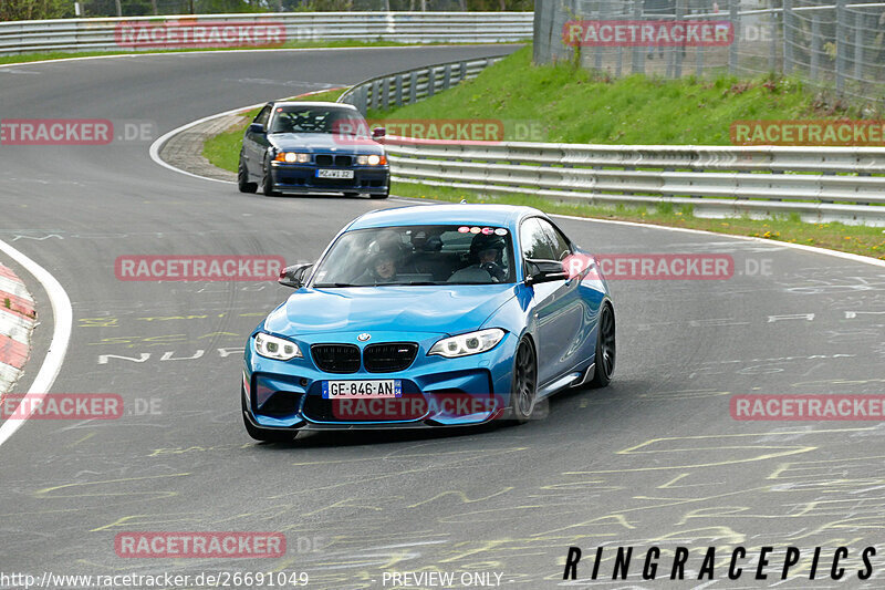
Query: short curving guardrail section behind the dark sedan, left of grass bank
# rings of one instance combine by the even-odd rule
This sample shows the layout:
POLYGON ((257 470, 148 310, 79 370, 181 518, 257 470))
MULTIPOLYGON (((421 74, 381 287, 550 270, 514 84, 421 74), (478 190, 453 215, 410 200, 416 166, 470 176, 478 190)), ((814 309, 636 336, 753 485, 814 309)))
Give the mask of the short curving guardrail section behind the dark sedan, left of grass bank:
POLYGON ((482 70, 503 58, 504 55, 493 55, 479 60, 438 63, 372 77, 351 87, 339 97, 337 102, 352 104, 363 114, 369 108, 412 104, 429 99, 464 80, 476 77, 482 70))

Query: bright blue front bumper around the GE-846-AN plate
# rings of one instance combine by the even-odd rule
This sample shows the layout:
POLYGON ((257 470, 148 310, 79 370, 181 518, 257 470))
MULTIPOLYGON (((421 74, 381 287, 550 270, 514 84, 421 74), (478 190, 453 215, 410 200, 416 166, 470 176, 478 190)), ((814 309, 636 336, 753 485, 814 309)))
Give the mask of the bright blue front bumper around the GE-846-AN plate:
MULTIPOLYGON (((373 343, 417 342, 412 365, 392 373, 327 373, 313 362, 310 344, 361 343, 356 333, 293 339, 304 358, 274 361, 254 353, 254 338, 246 348, 241 394, 246 418, 263 428, 356 429, 423 428, 478 425, 503 414, 509 404, 517 339, 508 333, 485 353, 460 359, 427 356, 446 334, 374 333, 373 343), (324 400, 323 381, 399 380, 402 396, 386 400, 324 400)), ((362 352, 362 351, 361 351, 362 352)))

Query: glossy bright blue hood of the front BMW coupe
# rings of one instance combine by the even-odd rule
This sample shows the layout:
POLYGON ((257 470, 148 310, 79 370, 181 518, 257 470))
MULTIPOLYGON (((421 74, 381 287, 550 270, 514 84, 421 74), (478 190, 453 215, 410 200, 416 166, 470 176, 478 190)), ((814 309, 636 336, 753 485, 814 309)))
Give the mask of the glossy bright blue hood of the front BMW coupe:
POLYGON ((300 289, 273 310, 277 334, 389 330, 452 334, 477 330, 516 296, 516 284, 300 289))

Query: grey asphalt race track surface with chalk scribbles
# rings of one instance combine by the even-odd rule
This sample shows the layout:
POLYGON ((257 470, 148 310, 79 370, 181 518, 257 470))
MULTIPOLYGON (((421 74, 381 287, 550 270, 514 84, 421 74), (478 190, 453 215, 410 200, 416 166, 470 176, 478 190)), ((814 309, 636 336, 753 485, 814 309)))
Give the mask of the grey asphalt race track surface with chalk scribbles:
MULTIPOLYGON (((497 52, 220 52, 24 64, 0 68, 0 118, 142 121, 158 135, 264 100, 497 52)), ((303 571, 315 589, 395 587, 385 571, 497 572, 501 586, 535 589, 566 583, 565 556, 579 546, 583 581, 570 586, 885 583, 882 422, 739 422, 729 414, 731 394, 883 393, 882 267, 773 242, 561 218, 566 234, 594 251, 728 253, 736 273, 613 281, 615 380, 606 390, 558 396, 545 420, 256 444, 240 418, 241 350, 290 290, 275 282, 121 281, 114 260, 314 260, 356 215, 403 203, 242 195, 232 184, 158 166, 149 143, 0 146, 0 240, 50 270, 73 304, 73 335, 52 391, 116 393, 128 408, 111 421, 32 420, 0 447, 0 571, 303 571), (271 560, 117 557, 115 536, 132 531, 274 531, 285 535, 288 552, 271 560), (729 581, 739 545, 748 549, 748 571, 729 581), (598 546, 635 548, 628 580, 612 581, 614 549, 600 579, 590 580, 598 546), (663 552, 660 571, 643 581, 652 546, 663 552), (678 546, 690 549, 681 582, 668 579, 678 546), (698 582, 710 546, 721 551, 715 580, 698 582), (757 580, 766 546, 773 566, 757 580), (800 548, 802 560, 781 581, 788 546, 800 548), (830 563, 841 546, 848 548, 845 579, 834 581, 830 563), (860 555, 868 546, 878 555, 873 577, 862 581, 860 555), (819 579, 810 581, 815 547, 823 548, 819 579)), ((51 311, 30 275, 2 255, 0 261, 28 282, 41 313, 15 390, 24 392, 45 354, 51 311)))

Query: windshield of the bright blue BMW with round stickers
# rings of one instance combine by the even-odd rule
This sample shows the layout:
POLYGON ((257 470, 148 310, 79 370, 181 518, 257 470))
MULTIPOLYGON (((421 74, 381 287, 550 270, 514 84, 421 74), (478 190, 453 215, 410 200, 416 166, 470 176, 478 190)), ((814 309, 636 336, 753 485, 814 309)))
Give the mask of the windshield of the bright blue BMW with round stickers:
POLYGON ((510 231, 490 226, 403 226, 341 236, 313 287, 513 282, 510 231))

